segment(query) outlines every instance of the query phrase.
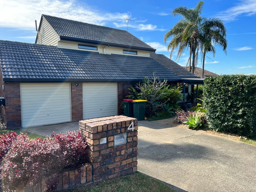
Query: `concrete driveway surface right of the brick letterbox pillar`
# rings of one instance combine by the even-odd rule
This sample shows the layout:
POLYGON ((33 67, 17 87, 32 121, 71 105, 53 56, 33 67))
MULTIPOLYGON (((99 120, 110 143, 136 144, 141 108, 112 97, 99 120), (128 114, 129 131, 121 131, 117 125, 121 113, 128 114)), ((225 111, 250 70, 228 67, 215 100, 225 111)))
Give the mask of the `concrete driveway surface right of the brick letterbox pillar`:
POLYGON ((138 171, 178 191, 256 191, 256 147, 140 121, 138 171))

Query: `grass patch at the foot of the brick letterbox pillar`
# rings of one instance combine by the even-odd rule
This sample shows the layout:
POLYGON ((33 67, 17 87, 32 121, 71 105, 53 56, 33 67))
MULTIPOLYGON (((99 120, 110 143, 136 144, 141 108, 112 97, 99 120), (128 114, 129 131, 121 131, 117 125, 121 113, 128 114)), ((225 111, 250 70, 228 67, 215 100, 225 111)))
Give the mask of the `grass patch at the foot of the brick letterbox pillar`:
POLYGON ((124 177, 118 177, 110 180, 103 180, 92 185, 69 189, 65 192, 176 192, 164 183, 144 175, 140 172, 135 172, 124 177))

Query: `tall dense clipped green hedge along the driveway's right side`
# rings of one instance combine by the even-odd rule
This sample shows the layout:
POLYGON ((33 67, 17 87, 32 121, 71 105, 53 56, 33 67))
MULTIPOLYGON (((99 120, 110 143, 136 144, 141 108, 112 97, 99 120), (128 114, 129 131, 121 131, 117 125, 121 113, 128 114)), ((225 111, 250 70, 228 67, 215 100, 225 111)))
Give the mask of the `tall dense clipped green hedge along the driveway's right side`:
POLYGON ((211 129, 256 136, 255 75, 205 78, 203 96, 211 129))

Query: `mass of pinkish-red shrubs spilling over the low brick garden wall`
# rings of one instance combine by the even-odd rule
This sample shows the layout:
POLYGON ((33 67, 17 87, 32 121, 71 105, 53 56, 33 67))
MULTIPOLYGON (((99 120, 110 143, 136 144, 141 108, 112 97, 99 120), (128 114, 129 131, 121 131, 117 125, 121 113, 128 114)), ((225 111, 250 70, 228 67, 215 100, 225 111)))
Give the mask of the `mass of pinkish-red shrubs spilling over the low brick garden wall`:
POLYGON ((86 143, 80 132, 67 132, 67 135, 54 133, 52 136, 53 139, 30 140, 28 135, 21 133, 17 137, 1 165, 5 191, 27 184, 35 185, 65 168, 86 163, 82 162, 86 143))

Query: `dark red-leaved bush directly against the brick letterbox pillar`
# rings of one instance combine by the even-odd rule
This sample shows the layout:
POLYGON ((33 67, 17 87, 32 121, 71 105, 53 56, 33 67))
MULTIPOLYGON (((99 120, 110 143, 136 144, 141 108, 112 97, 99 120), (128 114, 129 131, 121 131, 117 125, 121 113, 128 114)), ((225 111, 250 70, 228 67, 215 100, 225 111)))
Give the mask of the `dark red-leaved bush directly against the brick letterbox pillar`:
POLYGON ((66 134, 53 132, 51 136, 60 145, 61 152, 64 155, 65 168, 74 168, 88 161, 87 144, 81 132, 68 131, 66 134))

